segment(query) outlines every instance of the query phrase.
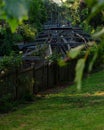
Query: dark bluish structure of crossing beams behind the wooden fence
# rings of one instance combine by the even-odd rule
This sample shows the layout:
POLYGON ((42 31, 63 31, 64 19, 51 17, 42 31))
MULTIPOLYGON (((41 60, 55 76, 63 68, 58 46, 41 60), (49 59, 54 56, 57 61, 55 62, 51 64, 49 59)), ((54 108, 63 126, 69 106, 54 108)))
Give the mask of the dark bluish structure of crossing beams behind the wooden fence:
POLYGON ((60 54, 63 58, 67 51, 79 45, 88 47, 88 42, 92 38, 80 27, 72 27, 70 23, 45 24, 43 31, 39 33, 33 43, 18 45, 23 51, 23 59, 41 60, 54 52, 60 54))

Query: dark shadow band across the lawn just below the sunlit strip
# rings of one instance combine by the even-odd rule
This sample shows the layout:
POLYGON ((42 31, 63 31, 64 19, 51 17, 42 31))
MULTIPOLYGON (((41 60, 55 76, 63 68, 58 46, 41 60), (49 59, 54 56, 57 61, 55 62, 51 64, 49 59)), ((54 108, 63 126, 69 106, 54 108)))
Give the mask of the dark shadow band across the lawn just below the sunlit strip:
POLYGON ((38 114, 40 112, 57 112, 62 110, 72 110, 72 109, 86 109, 86 108, 98 108, 103 109, 104 106, 104 96, 95 95, 53 95, 37 98, 35 102, 31 104, 26 104, 19 107, 16 113, 21 115, 31 115, 38 114))

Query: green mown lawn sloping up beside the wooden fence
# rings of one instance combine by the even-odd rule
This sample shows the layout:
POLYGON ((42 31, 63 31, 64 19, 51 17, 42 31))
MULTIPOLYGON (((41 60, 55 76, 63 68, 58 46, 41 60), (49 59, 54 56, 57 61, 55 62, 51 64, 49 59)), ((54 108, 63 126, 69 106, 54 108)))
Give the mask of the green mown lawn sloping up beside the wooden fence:
POLYGON ((0 130, 104 130, 104 71, 0 116, 0 130))

